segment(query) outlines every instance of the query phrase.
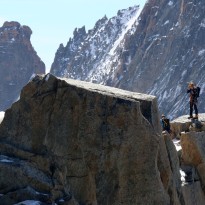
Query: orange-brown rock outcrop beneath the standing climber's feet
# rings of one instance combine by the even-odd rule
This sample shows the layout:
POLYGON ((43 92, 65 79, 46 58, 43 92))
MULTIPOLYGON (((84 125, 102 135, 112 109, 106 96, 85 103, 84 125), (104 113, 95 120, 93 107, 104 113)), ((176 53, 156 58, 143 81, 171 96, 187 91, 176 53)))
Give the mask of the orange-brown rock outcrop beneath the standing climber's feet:
POLYGON ((180 138, 180 168, 185 178, 182 180, 182 192, 186 205, 205 204, 204 120, 205 114, 200 114, 199 121, 191 122, 187 116, 182 116, 171 122, 171 129, 180 138))

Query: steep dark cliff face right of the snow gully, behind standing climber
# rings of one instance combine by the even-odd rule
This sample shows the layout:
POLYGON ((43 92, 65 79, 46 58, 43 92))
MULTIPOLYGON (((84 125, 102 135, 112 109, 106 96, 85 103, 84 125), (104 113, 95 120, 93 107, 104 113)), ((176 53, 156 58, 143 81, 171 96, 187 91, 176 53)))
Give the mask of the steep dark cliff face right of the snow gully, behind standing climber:
MULTIPOLYGON (((188 114, 187 82, 196 82, 202 93, 205 87, 204 9, 203 1, 148 1, 125 44, 130 50, 135 39, 133 60, 119 87, 157 96, 160 110, 171 117, 188 114)), ((201 112, 204 100, 202 95, 201 112)))

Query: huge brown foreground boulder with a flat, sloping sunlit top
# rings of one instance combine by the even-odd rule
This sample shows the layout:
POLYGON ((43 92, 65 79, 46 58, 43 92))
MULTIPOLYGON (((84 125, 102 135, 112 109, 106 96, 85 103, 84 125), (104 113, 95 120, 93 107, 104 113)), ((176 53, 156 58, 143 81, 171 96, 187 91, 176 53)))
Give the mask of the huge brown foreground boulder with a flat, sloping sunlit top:
POLYGON ((0 201, 184 204, 160 133, 154 96, 36 76, 0 124, 0 201))

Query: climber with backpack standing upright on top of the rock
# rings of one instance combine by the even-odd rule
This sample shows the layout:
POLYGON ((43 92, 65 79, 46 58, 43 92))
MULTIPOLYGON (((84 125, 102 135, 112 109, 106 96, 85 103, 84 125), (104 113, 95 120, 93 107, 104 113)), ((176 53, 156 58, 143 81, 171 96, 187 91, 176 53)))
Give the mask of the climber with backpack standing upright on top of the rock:
POLYGON ((198 119, 198 108, 197 108, 197 102, 199 97, 200 88, 197 87, 193 82, 189 82, 187 93, 190 94, 189 97, 189 105, 190 105, 190 113, 188 119, 198 119), (193 107, 195 111, 195 117, 193 117, 193 107))

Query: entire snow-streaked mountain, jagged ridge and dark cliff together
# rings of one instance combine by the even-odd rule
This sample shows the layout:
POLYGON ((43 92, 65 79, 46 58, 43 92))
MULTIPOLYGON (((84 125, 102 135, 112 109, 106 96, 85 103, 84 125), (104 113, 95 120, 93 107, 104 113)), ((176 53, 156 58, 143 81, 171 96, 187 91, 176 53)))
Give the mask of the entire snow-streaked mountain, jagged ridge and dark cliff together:
POLYGON ((51 73, 158 97, 170 118, 189 113, 187 82, 201 87, 205 112, 205 4, 202 0, 149 0, 76 29, 56 53, 51 73))

